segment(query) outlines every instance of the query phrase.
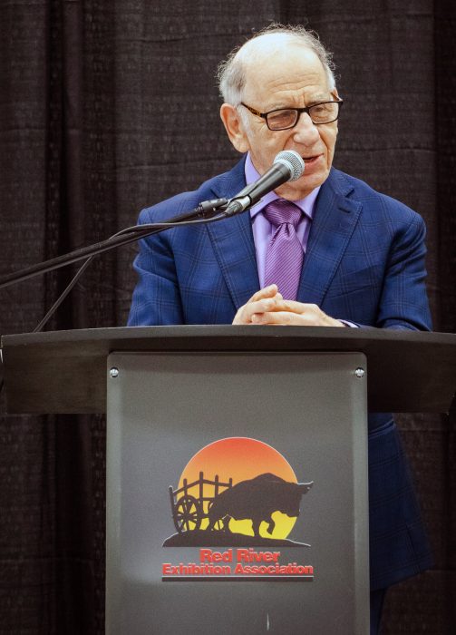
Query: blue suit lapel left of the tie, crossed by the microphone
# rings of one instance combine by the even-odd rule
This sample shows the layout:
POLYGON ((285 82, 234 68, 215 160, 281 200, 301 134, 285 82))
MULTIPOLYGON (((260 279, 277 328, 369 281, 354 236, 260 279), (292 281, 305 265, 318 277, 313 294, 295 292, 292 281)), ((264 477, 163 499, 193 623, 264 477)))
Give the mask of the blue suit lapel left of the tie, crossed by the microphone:
MULTIPOLYGON (((231 198, 246 185, 244 160, 218 180, 215 196, 231 198)), ((257 256, 250 214, 245 211, 230 219, 206 226, 221 272, 235 306, 241 307, 259 288, 257 256)))

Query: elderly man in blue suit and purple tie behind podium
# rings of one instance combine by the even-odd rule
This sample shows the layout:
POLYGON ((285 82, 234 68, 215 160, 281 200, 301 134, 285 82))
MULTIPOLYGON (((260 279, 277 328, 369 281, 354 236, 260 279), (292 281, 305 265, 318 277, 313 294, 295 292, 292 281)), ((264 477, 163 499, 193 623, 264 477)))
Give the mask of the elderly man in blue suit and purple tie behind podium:
MULTIPOLYGON (((306 170, 250 214, 141 241, 129 324, 429 329, 422 219, 332 168, 342 106, 329 54, 303 27, 255 35, 219 67, 231 171, 141 212, 157 222, 235 196, 277 152, 306 170)), ((369 416, 371 620, 384 590, 431 558, 391 415, 369 416)))

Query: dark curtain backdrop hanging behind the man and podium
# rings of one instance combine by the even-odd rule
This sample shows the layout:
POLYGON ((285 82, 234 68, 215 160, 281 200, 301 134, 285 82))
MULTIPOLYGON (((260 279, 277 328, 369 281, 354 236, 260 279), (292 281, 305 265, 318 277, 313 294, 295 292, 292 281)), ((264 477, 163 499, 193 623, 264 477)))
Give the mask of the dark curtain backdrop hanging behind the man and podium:
MULTIPOLYGON (((218 60, 271 21, 335 52, 345 101, 335 166, 418 210, 437 330, 455 331, 456 5, 451 0, 1 0, 0 273, 133 224, 236 161, 218 60)), ((134 248, 92 263, 47 328, 125 323, 134 248)), ((0 332, 43 317, 70 271, 0 291, 0 332)), ((397 585, 384 632, 450 633, 454 417, 407 415, 435 567, 397 585)), ((0 633, 102 633, 102 417, 4 417, 0 633)))

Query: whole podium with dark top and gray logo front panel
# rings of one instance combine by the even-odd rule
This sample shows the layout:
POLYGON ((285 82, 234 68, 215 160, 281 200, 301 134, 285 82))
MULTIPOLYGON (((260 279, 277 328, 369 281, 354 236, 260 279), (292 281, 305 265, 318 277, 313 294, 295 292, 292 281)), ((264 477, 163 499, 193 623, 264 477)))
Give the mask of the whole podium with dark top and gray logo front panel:
POLYGON ((107 633, 369 632, 367 411, 448 411, 456 336, 134 327, 2 352, 9 413, 107 413, 107 633))

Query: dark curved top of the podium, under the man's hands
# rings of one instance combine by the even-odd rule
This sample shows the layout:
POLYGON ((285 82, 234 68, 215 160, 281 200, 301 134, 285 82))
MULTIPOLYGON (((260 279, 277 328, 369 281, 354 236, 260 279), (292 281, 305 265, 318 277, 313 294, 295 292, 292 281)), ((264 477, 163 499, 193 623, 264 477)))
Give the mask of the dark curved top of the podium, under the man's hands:
POLYGON ((112 352, 347 353, 367 357, 373 412, 447 412, 456 335, 375 328, 182 326, 92 328, 2 337, 7 411, 102 413, 112 352))

